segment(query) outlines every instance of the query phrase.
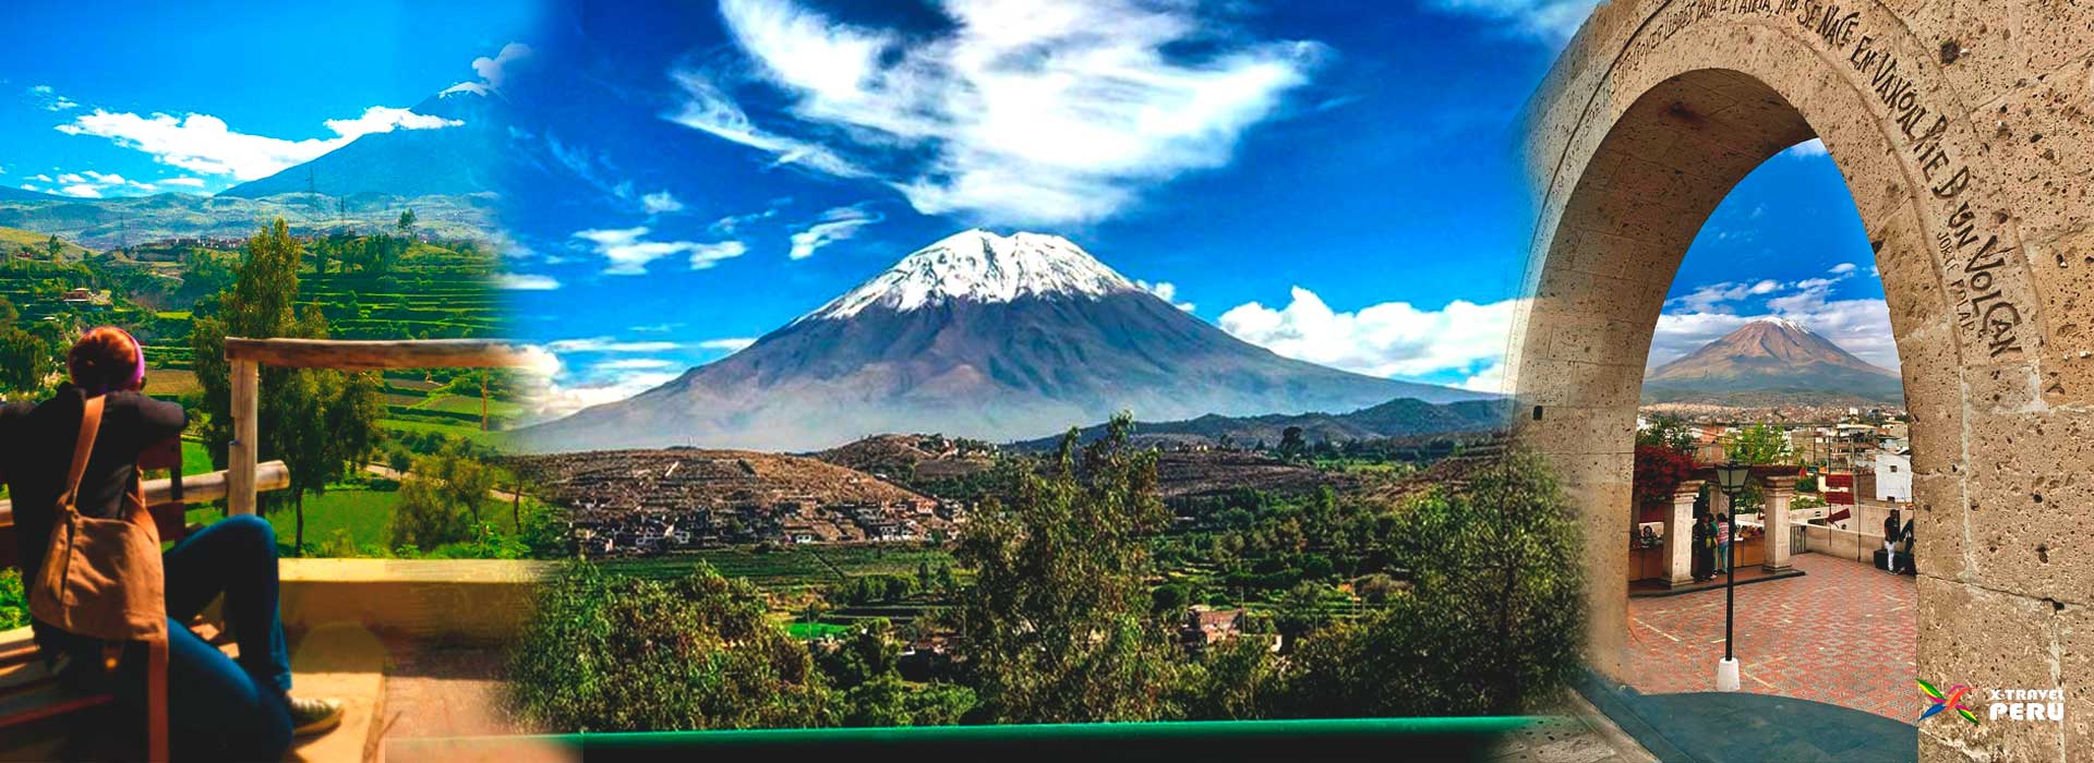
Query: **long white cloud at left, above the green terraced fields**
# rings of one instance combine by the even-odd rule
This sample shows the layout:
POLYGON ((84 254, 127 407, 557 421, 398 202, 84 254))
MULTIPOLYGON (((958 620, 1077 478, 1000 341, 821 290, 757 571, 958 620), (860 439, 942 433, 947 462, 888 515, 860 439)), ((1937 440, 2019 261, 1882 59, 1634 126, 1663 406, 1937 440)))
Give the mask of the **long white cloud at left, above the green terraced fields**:
POLYGON ((371 107, 354 119, 327 119, 335 138, 285 140, 235 132, 224 119, 191 113, 182 117, 155 113, 111 113, 94 109, 57 130, 69 136, 109 138, 117 146, 153 155, 155 161, 205 176, 237 180, 268 178, 285 167, 341 148, 356 138, 394 130, 438 130, 459 125, 456 119, 419 115, 408 109, 371 107))

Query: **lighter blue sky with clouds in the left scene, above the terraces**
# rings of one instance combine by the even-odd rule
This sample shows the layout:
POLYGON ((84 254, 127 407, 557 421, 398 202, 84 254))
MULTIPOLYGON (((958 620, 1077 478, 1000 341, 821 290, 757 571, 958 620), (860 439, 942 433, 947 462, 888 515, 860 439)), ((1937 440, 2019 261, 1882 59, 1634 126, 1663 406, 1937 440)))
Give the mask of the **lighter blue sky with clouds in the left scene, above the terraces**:
POLYGON ((216 192, 477 82, 536 23, 515 2, 8 2, 0 184, 73 196, 216 192), (333 121, 333 125, 329 125, 333 121))

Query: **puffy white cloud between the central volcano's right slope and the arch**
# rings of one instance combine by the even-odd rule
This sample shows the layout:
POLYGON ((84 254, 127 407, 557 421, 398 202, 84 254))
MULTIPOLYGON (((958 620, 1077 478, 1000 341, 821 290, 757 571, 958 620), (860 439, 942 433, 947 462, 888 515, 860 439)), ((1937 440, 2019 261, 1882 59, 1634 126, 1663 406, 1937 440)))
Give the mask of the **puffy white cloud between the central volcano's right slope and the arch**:
POLYGON ((1244 303, 1221 314, 1219 324, 1235 339, 1279 355, 1361 374, 1485 374, 1506 355, 1516 307, 1516 299, 1489 305, 1451 301, 1432 311, 1393 301, 1334 311, 1315 293, 1294 286, 1286 307, 1244 303))

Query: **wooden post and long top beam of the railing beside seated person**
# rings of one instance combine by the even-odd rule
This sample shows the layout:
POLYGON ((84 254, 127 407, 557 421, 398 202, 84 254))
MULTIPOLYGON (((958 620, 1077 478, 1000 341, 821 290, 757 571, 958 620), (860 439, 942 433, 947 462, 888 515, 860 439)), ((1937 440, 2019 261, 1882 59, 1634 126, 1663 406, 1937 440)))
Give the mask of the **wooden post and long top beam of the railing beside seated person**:
POLYGON ((226 362, 232 364, 232 443, 226 447, 226 508, 232 514, 255 512, 255 491, 262 475, 255 464, 260 447, 262 366, 279 368, 515 368, 521 351, 513 345, 480 339, 423 341, 337 341, 337 339, 239 339, 226 337, 226 362))

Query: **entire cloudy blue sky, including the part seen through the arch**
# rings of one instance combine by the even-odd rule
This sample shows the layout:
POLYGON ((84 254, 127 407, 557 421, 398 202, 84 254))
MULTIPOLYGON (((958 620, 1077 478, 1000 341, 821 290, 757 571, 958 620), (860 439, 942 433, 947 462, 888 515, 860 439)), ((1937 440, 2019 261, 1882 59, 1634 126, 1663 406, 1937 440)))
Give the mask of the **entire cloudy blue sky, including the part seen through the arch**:
MULTIPOLYGON (((1284 355, 1493 389, 1531 217, 1512 121, 1589 0, 1359 8, 17 4, 48 33, 0 48, 0 184, 214 192, 442 130, 406 109, 463 82, 511 107, 505 286, 557 368, 547 414, 725 357, 970 226, 1068 236, 1284 355)), ((1809 144, 1740 184, 1671 297, 1654 362, 1782 314, 1895 366, 1809 144)))

